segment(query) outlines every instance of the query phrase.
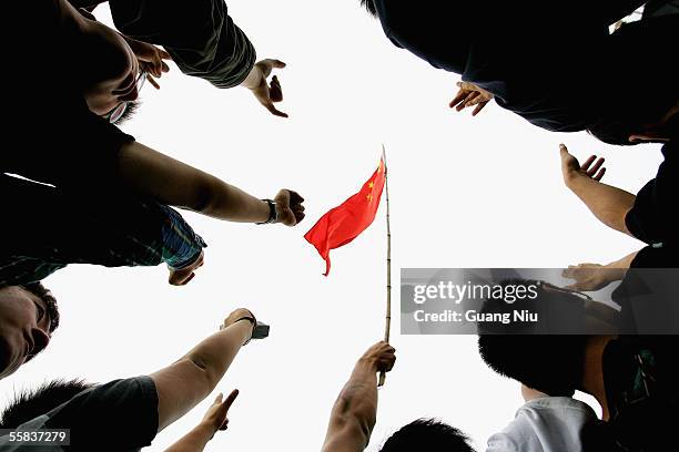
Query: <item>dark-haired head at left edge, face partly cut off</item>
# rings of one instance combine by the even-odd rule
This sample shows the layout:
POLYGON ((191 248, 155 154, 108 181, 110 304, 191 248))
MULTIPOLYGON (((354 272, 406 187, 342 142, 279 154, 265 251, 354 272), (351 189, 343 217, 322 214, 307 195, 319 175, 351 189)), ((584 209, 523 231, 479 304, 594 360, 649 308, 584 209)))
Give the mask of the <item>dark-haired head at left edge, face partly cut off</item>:
POLYGON ((40 282, 0 288, 0 379, 41 352, 58 326, 57 300, 40 282))

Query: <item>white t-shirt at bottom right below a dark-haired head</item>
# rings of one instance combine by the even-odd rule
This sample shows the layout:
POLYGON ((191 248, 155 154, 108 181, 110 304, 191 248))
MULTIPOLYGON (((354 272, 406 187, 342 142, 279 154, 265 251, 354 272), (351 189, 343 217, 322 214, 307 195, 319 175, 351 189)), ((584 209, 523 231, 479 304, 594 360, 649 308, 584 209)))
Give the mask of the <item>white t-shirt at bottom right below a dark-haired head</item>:
POLYGON ((582 451, 582 429, 596 419, 588 404, 569 397, 533 399, 505 430, 488 439, 487 452, 582 451))

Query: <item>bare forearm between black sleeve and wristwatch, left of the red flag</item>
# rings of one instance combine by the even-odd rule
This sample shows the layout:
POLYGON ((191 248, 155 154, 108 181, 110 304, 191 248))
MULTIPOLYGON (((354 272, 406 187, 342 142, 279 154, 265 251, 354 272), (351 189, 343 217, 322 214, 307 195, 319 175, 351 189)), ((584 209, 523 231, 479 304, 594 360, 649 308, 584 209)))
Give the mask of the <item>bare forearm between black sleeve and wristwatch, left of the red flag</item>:
POLYGON ((257 223, 268 218, 265 202, 141 143, 123 144, 119 172, 133 192, 162 204, 230 222, 257 223))

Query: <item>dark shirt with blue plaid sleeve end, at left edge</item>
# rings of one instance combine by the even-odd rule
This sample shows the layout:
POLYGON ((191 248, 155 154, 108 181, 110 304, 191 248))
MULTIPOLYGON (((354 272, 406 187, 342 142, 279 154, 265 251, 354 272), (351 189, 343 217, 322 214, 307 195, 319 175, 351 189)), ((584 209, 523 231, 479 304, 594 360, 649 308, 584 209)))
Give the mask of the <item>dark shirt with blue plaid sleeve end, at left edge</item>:
POLYGON ((171 207, 120 191, 95 199, 0 175, 11 222, 0 240, 0 287, 39 281, 70 264, 193 264, 205 242, 171 207))

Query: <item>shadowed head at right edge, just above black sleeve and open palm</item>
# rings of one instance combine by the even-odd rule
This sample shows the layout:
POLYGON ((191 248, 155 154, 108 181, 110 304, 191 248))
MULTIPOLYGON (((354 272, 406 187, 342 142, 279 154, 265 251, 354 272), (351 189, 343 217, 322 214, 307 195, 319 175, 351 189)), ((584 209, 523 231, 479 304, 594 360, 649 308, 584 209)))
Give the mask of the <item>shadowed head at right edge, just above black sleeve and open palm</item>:
POLYGON ((590 126, 587 132, 598 140, 620 146, 630 146, 641 143, 667 143, 671 135, 677 136, 679 127, 679 100, 667 100, 662 95, 648 96, 651 102, 646 111, 637 110, 628 114, 611 114, 590 126))

